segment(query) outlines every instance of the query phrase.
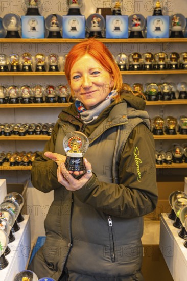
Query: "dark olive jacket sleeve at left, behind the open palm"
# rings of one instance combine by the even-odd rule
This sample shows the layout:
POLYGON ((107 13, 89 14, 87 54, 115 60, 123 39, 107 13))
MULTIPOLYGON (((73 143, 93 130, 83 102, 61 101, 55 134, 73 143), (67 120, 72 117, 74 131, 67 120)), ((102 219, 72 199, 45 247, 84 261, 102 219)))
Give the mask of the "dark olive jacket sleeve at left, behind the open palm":
POLYGON ((31 182, 33 186, 45 193, 61 186, 57 180, 57 164, 44 156, 45 151, 55 151, 58 126, 58 124, 54 126, 51 138, 45 144, 44 150, 42 152, 37 152, 31 170, 31 182))

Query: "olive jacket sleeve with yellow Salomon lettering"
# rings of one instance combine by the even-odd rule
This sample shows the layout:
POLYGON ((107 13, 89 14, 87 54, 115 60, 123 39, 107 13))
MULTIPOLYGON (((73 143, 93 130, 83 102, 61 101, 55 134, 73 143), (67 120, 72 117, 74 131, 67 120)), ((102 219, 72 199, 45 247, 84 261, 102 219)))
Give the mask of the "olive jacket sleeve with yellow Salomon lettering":
POLYGON ((139 124, 129 135, 119 162, 119 184, 101 182, 93 174, 74 194, 80 201, 116 217, 151 213, 158 196, 154 138, 148 128, 139 124))

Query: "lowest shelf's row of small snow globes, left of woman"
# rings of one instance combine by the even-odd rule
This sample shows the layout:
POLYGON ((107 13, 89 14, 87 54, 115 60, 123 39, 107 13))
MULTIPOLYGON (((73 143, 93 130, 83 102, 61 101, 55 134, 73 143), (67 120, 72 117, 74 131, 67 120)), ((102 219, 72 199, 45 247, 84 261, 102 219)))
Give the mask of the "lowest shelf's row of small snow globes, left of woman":
POLYGON ((7 162, 10 166, 30 166, 32 165, 36 156, 36 152, 12 152, 9 151, 5 153, 4 151, 0 153, 0 166, 7 162))

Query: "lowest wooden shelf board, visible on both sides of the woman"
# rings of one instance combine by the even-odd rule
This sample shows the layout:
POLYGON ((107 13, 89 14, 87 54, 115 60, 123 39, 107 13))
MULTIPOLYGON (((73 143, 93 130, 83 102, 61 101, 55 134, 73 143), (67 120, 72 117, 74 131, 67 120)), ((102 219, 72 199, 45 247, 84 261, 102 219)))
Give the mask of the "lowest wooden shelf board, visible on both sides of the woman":
MULTIPOLYGON (((175 164, 172 163, 171 165, 163 164, 163 165, 156 165, 157 169, 170 169, 170 168, 187 168, 187 163, 175 164)), ((31 170, 32 166, 9 166, 9 163, 4 163, 0 166, 0 171, 22 171, 22 170, 31 170)))

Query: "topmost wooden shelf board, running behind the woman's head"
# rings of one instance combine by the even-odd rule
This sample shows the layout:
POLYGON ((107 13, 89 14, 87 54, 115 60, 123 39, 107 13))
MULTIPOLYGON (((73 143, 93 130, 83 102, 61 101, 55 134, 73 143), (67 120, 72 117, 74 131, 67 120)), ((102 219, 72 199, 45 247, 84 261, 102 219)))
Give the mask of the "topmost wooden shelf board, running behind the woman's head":
MULTIPOLYGON (((2 43, 78 43, 85 39, 69 39, 69 38, 1 38, 2 43)), ((96 39, 103 43, 186 43, 187 38, 125 38, 125 39, 96 39)))

